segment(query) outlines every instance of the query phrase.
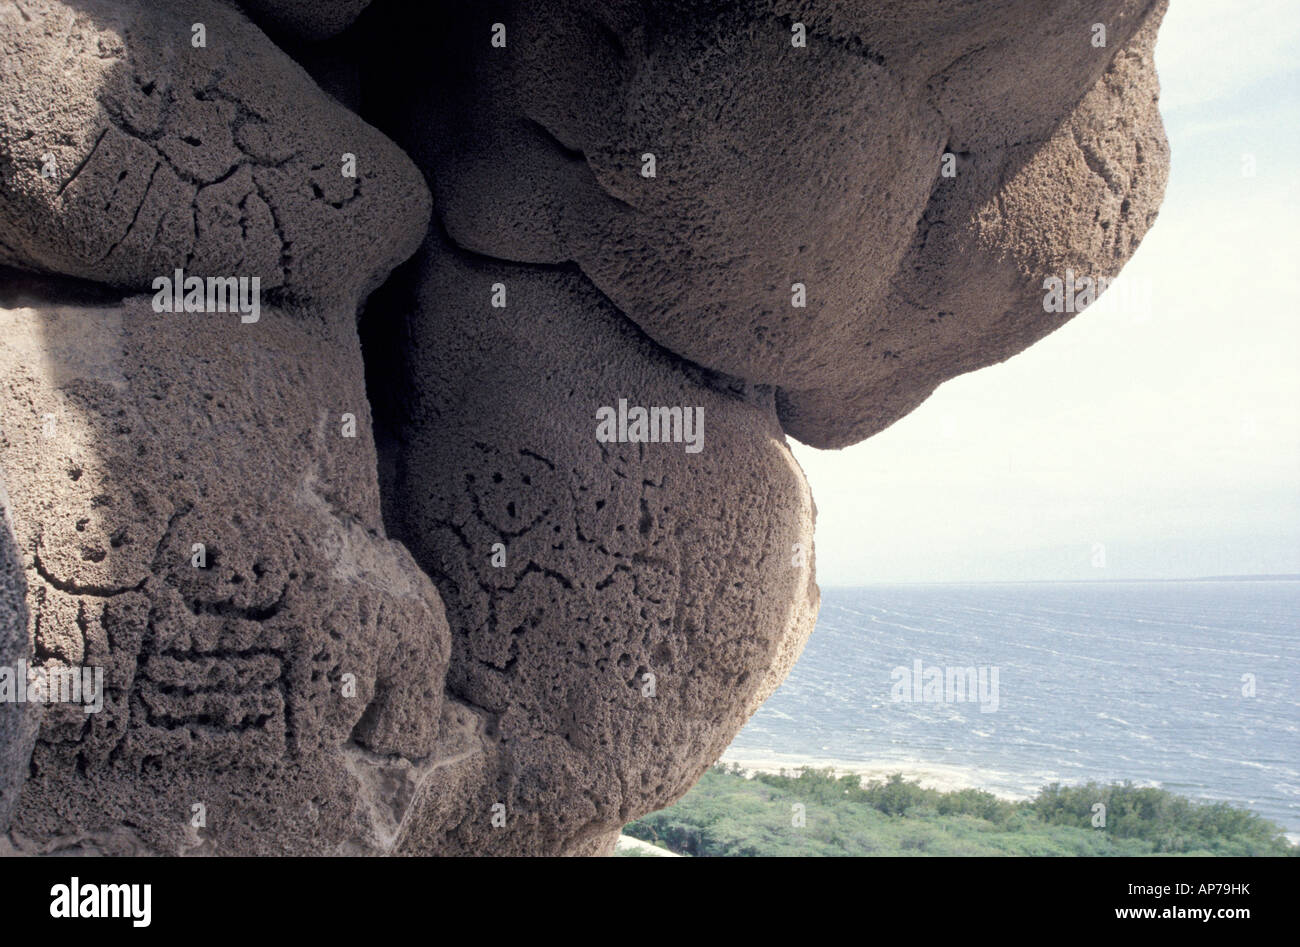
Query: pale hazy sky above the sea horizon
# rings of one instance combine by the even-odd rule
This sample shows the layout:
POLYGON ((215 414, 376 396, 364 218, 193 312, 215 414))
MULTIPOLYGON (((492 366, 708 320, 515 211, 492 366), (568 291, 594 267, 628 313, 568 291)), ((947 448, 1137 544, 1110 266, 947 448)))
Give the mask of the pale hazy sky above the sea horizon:
POLYGON ((1300 3, 1174 0, 1154 228, 1034 347, 848 450, 794 445, 823 585, 1300 572, 1297 49, 1300 3))

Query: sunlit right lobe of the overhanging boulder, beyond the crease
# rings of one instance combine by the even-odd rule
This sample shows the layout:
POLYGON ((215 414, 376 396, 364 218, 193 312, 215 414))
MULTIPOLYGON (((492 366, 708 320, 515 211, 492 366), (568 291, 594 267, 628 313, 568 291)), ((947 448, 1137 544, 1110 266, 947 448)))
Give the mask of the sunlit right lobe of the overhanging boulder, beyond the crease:
POLYGON ((818 446, 868 437, 948 379, 1008 359, 1069 321, 1074 312, 1044 311, 1045 280, 1119 273, 1156 220, 1169 173, 1152 60, 1162 12, 1150 5, 1045 140, 952 146, 961 151, 957 177, 936 187, 888 293, 842 340, 841 364, 863 371, 783 388, 786 432, 818 446))

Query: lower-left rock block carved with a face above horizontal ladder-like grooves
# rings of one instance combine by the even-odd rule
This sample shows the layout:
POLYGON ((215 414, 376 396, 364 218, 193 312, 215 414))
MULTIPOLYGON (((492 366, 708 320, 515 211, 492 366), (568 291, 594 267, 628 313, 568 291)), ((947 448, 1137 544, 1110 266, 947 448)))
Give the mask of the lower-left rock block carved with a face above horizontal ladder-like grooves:
POLYGON ((147 295, 0 310, 0 466, 35 650, 103 667, 107 693, 98 714, 46 709, 20 848, 391 844, 347 764, 433 756, 450 641, 385 539, 341 325, 160 315, 147 295))

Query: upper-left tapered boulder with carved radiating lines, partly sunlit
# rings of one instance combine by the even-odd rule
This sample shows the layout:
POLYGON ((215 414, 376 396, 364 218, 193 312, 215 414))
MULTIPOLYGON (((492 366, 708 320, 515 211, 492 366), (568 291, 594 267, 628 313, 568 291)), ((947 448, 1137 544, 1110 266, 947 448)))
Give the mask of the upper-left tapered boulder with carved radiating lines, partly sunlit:
POLYGON ((230 7, 0 7, 0 263, 355 303, 428 216, 410 160, 230 7))

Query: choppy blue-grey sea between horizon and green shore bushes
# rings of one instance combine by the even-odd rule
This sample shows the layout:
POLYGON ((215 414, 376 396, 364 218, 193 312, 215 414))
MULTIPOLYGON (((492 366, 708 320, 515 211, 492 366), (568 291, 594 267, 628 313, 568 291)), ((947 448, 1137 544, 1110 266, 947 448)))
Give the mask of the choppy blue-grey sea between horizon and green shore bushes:
POLYGON ((1300 581, 824 589, 803 657, 724 758, 963 773, 1010 796, 1128 779, 1296 834, 1297 684, 1300 581), (918 658, 996 667, 997 709, 892 700, 918 658))

